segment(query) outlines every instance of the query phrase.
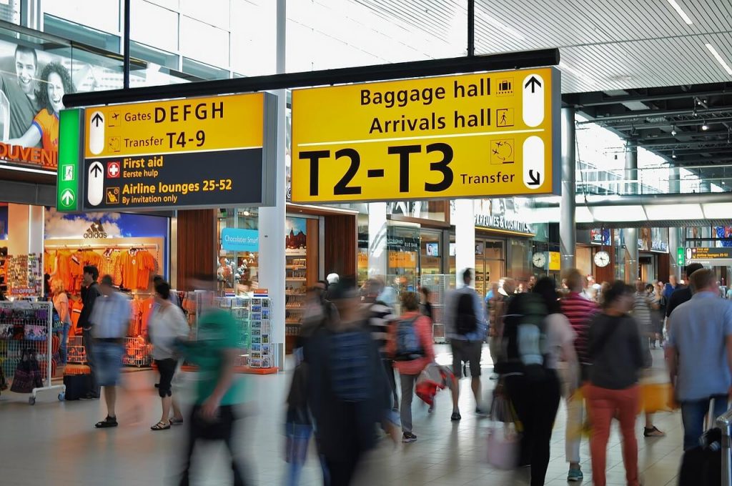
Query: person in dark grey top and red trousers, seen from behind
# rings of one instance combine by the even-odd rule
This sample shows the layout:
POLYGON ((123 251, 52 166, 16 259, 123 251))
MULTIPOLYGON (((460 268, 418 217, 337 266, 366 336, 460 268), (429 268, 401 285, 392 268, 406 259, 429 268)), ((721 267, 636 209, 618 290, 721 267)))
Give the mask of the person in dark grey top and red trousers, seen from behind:
POLYGON ((592 481, 596 486, 606 484, 610 422, 615 416, 620 422, 627 485, 640 484, 635 415, 641 398, 638 375, 644 359, 638 323, 628 314, 633 300, 633 288, 616 281, 605 294, 602 313, 592 318, 589 327, 587 353, 592 367, 586 395, 592 422, 592 481))

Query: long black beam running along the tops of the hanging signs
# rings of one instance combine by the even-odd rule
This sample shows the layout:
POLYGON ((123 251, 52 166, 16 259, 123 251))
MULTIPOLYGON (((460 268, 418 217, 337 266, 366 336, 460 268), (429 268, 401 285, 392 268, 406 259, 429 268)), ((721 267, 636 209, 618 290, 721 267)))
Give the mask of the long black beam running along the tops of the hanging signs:
POLYGON ((543 49, 541 51, 501 53, 490 56, 428 59, 426 61, 377 64, 375 66, 343 67, 333 70, 288 72, 285 74, 253 76, 251 78, 200 81, 174 86, 145 86, 132 89, 91 91, 64 95, 64 106, 66 108, 75 108, 78 106, 215 96, 217 94, 248 93, 272 89, 390 81, 467 72, 515 70, 556 66, 556 64, 559 64, 559 49, 543 49))

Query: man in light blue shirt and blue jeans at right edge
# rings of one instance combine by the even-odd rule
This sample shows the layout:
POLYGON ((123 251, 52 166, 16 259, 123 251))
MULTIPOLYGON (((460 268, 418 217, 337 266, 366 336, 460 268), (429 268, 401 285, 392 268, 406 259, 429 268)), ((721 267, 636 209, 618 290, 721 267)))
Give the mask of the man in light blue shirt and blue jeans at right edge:
POLYGON ((703 434, 704 417, 714 401, 714 416, 727 411, 732 392, 732 302, 720 299, 717 275, 692 273, 690 301, 671 313, 666 359, 676 400, 681 403, 684 450, 703 434))

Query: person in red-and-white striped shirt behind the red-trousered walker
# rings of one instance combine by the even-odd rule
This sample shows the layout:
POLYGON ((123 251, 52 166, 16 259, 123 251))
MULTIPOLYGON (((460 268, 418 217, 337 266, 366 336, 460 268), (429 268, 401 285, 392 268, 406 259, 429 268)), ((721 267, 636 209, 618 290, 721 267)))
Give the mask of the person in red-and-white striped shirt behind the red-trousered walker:
MULTIPOLYGON (((587 336, 592 315, 597 312, 597 304, 582 296, 585 277, 578 269, 569 269, 564 274, 564 284, 569 291, 560 301, 561 313, 567 316, 569 325, 575 332, 575 354, 579 363, 579 373, 563 376, 564 398, 567 400, 567 430, 564 453, 569 463, 567 481, 578 482, 584 479, 580 468, 580 443, 584 426, 584 400, 575 396, 589 377, 589 357, 587 356, 587 336)), ((608 286, 609 288, 609 286, 608 286)), ((603 296, 607 292, 603 291, 603 296)))

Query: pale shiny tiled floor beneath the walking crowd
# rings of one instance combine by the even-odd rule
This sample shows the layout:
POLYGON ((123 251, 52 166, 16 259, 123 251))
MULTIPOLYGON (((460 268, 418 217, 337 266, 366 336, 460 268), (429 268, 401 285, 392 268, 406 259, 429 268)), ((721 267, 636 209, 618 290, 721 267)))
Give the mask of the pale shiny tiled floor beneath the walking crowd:
MULTIPOLYGON (((440 362, 449 362, 444 354, 440 362)), ((487 350, 486 350, 487 351, 487 350)), ((660 352, 657 362, 661 361, 660 352)), ((488 355, 486 352, 485 355, 488 355)), ((490 368, 489 359, 484 360, 490 368)), ((484 376, 484 386, 493 382, 484 376)), ((179 470, 179 454, 184 428, 152 432, 157 422, 160 400, 152 388, 157 376, 152 372, 127 373, 130 392, 119 405, 121 426, 94 430, 103 416, 99 401, 59 403, 55 394, 41 395, 29 406, 26 395, 3 393, 0 397, 0 484, 19 485, 168 485, 174 484, 179 470), (141 416, 134 413, 135 400, 143 404, 141 416)), ((190 384, 195 376, 186 376, 190 384)), ((283 485, 285 467, 281 433, 283 402, 289 375, 248 376, 250 403, 247 419, 237 433, 237 444, 255 485, 283 485)), ((486 432, 489 422, 477 419, 468 381, 463 380, 460 398, 463 420, 449 421, 449 393, 438 395, 436 411, 427 414, 420 403, 414 405, 414 444, 393 446, 381 441, 359 474, 363 485, 493 486, 526 485, 527 471, 505 472, 485 462, 486 432)), ((644 439, 638 422, 639 461, 646 485, 675 484, 681 457, 681 425, 678 414, 657 414, 656 424, 668 433, 665 438, 644 439)), ((616 427, 614 427, 616 429, 616 427)), ((584 484, 591 484, 589 447, 582 446, 584 484)), ((226 485, 228 466, 224 449, 206 446, 201 476, 193 484, 226 485)), ((552 440, 552 460, 548 485, 566 485, 564 462, 564 406, 557 417, 552 440)), ((624 468, 617 431, 608 446, 608 483, 624 485, 624 468)), ((318 466, 311 454, 302 485, 320 485, 318 466)), ((575 483, 576 484, 576 483, 575 483)))

